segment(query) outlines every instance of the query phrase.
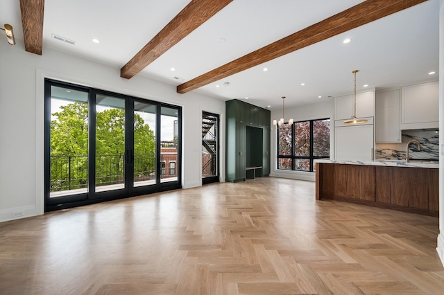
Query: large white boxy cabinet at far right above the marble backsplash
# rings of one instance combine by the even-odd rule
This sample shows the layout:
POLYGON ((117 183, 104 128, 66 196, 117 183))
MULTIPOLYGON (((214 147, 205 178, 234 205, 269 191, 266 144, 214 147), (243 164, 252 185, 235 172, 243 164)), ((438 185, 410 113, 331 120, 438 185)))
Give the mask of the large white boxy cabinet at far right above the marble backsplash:
POLYGON ((402 87, 401 129, 438 128, 438 82, 402 87))

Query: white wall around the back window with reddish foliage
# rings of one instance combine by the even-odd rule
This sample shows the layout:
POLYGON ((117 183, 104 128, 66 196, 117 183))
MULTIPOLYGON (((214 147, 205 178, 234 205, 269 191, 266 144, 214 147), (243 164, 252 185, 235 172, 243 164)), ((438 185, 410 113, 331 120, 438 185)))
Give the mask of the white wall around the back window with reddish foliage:
MULTIPOLYGON (((277 169, 277 128, 273 126, 273 119, 279 120, 282 117, 282 109, 271 111, 271 172, 270 176, 273 177, 284 177, 291 179, 302 179, 302 180, 315 180, 314 172, 300 172, 300 171, 285 171, 277 169)), ((334 124, 334 109, 333 109, 333 98, 327 102, 318 103, 314 105, 305 105, 302 107, 291 107, 285 109, 285 120, 288 121, 289 118, 293 118, 296 121, 302 120, 314 120, 321 118, 330 118, 331 126, 334 124)), ((334 154, 334 128, 330 128, 330 152, 334 154)))

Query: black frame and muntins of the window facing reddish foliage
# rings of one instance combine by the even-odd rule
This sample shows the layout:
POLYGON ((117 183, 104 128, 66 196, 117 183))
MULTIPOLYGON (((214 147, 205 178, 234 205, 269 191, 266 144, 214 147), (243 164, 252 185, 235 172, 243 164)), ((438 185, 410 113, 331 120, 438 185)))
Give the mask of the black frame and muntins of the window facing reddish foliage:
MULTIPOLYGON (((316 121, 323 121, 323 120, 329 120, 329 123, 330 123, 330 127, 329 127, 329 129, 331 130, 331 123, 332 123, 332 120, 331 120, 331 118, 320 118, 320 119, 311 119, 311 120, 300 120, 300 121, 296 121, 296 122, 293 122, 293 124, 291 125, 291 155, 282 155, 282 154, 279 154, 279 152, 280 152, 280 150, 279 150, 279 143, 280 143, 280 141, 279 141, 279 138, 280 138, 280 136, 279 136, 279 126, 278 126, 278 128, 277 128, 277 132, 276 132, 276 137, 277 137, 277 140, 276 140, 276 142, 277 142, 277 145, 276 145, 276 154, 277 154, 277 157, 276 157, 276 168, 277 168, 277 170, 287 170, 287 171, 298 171, 298 172, 314 172, 314 160, 316 160, 316 159, 326 159, 326 158, 328 158, 328 159, 330 159, 330 151, 331 151, 331 148, 329 148, 329 154, 328 155, 324 155, 324 156, 314 156, 314 122, 316 122, 316 121), (310 141, 310 149, 309 149, 309 155, 308 156, 296 156, 295 155, 295 125, 297 124, 297 123, 305 123, 305 122, 309 122, 310 123, 310 126, 309 126, 309 128, 310 128, 310 131, 309 131, 309 136, 310 136, 310 138, 309 138, 309 141, 310 141), (280 159, 290 159, 291 160, 291 168, 290 169, 287 169, 287 168, 280 168, 280 159), (299 169, 296 169, 296 161, 298 160, 298 159, 307 159, 307 160, 309 160, 309 170, 299 170, 299 169)), ((288 125, 288 123, 284 123, 285 125, 288 125)), ((331 140, 331 133, 330 133, 330 136, 329 136, 329 141, 331 140)), ((330 144, 329 144, 330 145, 330 144)))

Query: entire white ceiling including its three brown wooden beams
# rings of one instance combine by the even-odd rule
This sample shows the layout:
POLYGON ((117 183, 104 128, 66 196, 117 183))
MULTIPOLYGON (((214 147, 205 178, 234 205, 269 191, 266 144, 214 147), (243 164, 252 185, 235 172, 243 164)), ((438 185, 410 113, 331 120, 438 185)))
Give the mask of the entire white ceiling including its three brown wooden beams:
POLYGON ((248 97, 278 109, 281 96, 289 107, 351 93, 354 69, 358 90, 438 80, 428 74, 438 72, 438 6, 438 0, 3 0, 0 21, 12 24, 31 53, 54 48, 120 69, 122 78, 166 82, 187 96, 248 97), (352 41, 343 44, 345 38, 352 41))

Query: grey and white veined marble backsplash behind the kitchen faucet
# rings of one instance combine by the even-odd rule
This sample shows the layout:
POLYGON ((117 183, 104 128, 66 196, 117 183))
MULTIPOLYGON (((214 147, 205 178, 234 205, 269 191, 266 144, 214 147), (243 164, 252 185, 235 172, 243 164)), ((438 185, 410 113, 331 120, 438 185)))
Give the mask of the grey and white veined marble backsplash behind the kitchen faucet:
POLYGON ((416 139, 421 144, 421 150, 414 143, 410 145, 410 159, 438 161, 439 133, 438 129, 402 130, 402 143, 377 143, 377 160, 402 160, 407 154, 407 143, 416 139))

